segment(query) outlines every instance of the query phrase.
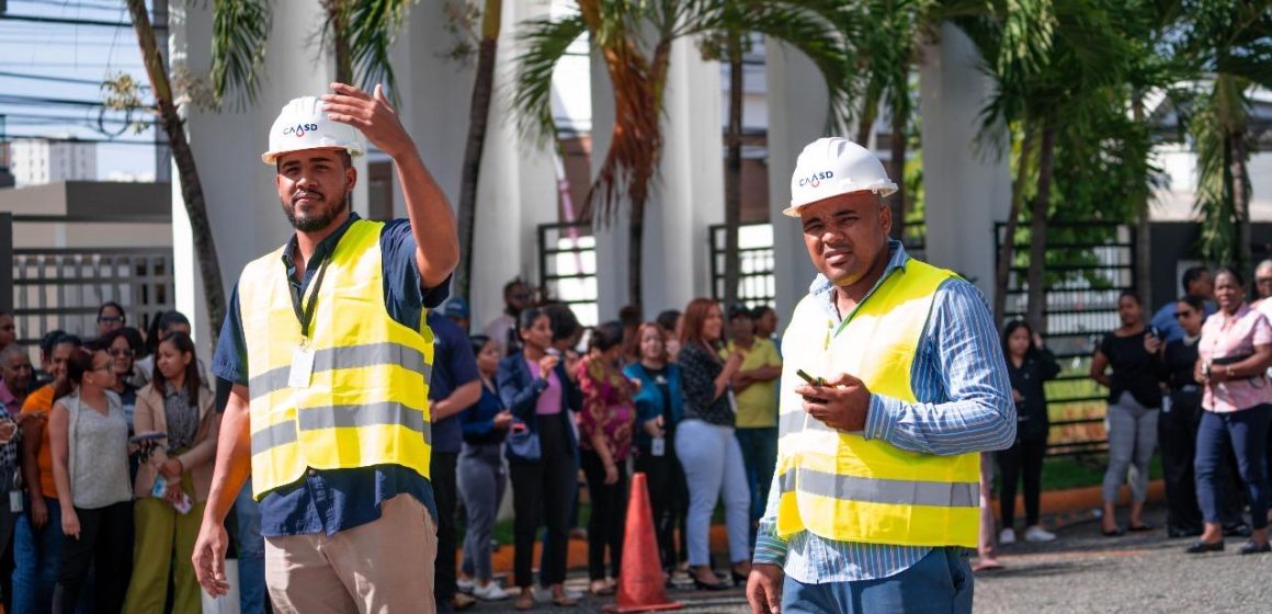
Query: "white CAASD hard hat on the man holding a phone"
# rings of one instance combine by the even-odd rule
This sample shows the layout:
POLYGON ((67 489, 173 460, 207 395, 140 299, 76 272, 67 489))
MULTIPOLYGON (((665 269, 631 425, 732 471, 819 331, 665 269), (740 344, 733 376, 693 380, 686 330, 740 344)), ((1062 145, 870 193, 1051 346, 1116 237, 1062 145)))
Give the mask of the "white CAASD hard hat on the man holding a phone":
POLYGON ((782 214, 799 217, 804 205, 850 192, 889 196, 897 184, 870 150, 838 136, 818 139, 800 153, 791 175, 791 206, 782 214))

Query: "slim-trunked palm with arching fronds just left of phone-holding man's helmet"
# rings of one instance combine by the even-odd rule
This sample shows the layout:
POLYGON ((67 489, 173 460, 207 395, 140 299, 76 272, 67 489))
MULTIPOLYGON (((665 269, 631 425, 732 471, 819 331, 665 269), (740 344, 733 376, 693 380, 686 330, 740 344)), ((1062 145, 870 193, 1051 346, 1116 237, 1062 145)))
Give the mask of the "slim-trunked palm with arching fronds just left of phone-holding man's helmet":
POLYGON ((792 0, 719 0, 720 29, 709 33, 701 47, 706 60, 729 65, 729 118, 725 128, 724 165, 724 300, 738 299, 742 259, 738 229, 742 224, 742 116, 743 55, 750 51, 752 34, 763 34, 804 53, 822 72, 829 93, 827 125, 847 122, 847 100, 852 79, 848 75, 845 46, 831 19, 833 5, 792 0))

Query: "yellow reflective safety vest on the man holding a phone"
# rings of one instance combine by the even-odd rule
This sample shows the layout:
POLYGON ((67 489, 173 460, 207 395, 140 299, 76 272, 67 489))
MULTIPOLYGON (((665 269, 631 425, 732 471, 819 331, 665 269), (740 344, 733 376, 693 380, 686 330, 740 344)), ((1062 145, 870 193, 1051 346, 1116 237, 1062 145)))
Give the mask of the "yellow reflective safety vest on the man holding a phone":
POLYGON ((827 379, 851 374, 871 393, 920 400, 911 367, 936 290, 953 276, 911 259, 837 328, 822 299, 805 296, 795 308, 782 337, 778 536, 808 530, 838 542, 976 547, 978 454, 918 454, 833 430, 809 416, 794 392, 803 369, 827 379))

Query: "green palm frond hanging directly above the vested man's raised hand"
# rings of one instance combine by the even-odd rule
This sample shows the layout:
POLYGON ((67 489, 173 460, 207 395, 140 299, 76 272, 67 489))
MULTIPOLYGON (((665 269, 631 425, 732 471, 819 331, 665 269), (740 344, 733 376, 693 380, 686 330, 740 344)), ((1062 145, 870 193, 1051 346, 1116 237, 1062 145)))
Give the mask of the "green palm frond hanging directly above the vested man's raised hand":
POLYGON ((389 51, 398 31, 418 0, 357 0, 341 3, 342 20, 349 28, 347 43, 354 74, 361 88, 370 92, 383 84, 389 100, 398 104, 397 78, 389 51))

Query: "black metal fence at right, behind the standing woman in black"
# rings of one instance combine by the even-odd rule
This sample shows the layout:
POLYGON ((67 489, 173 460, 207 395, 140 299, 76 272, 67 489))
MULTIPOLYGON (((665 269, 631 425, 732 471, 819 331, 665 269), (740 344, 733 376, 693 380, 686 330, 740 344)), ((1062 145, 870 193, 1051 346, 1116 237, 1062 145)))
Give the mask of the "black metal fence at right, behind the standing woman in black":
MULTIPOLYGON (((1002 245, 1004 233, 1005 225, 995 224, 996 248, 1002 245)), ((1136 285, 1135 233, 1124 225, 1052 224, 1047 235, 1047 329, 1040 333, 1061 364, 1060 378, 1046 386, 1048 454, 1104 453, 1107 390, 1088 372, 1100 338, 1121 324, 1118 295, 1136 285)), ((1016 263, 1028 261, 1028 243, 1018 242, 1015 249, 1021 254, 1016 263)), ((1013 266, 1010 271, 1004 323, 1023 318, 1029 308, 1029 267, 1013 266)))

